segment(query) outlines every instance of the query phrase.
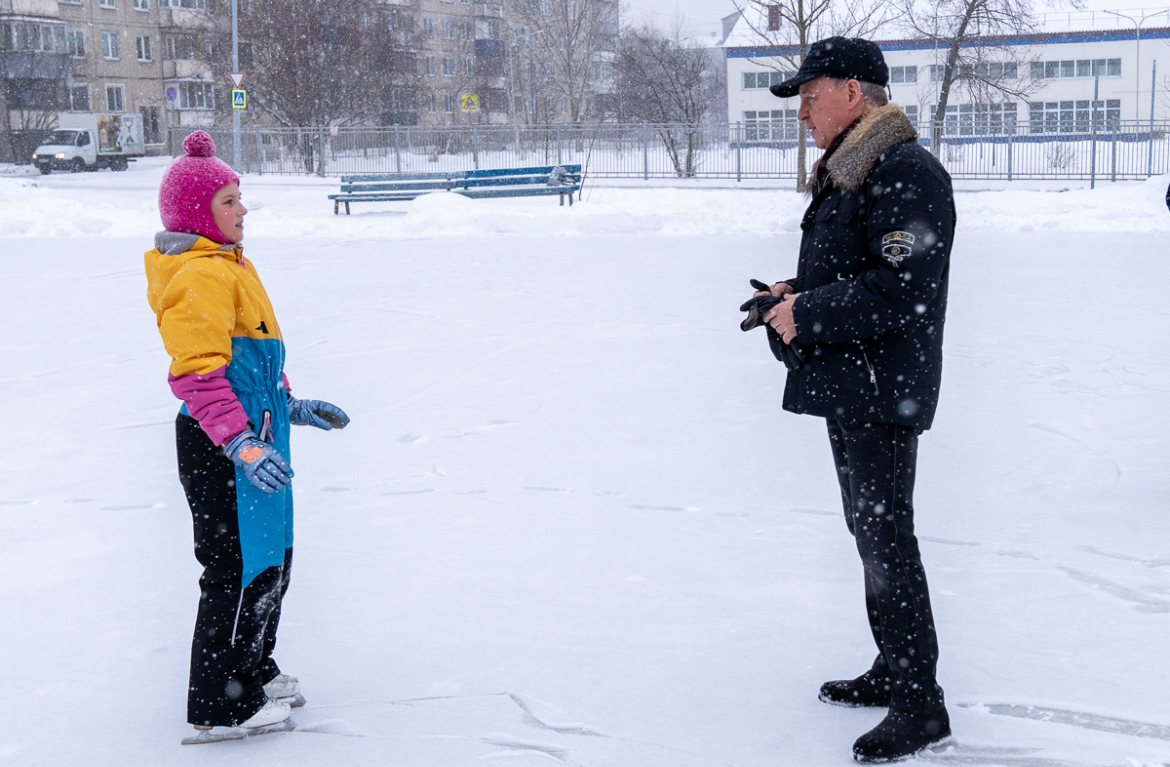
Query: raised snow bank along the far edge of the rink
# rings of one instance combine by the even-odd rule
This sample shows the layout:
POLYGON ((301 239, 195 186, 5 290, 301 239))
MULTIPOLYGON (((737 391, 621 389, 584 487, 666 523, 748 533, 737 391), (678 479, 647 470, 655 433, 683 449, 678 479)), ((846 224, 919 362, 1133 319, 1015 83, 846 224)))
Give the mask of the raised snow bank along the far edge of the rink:
MULTIPOLYGON (((128 173, 0 174, 4 233, 39 237, 149 237, 159 228, 157 189, 166 160, 128 173)), ((1097 189, 1038 191, 1007 186, 959 192, 961 229, 1071 233, 1170 232, 1164 194, 1170 177, 1097 189)), ((468 200, 428 194, 411 202, 357 202, 335 216, 336 179, 249 175, 245 202, 254 236, 424 240, 462 236, 777 235, 800 230, 807 203, 784 189, 631 188, 587 182, 572 207, 557 198, 468 200)), ((1021 182, 1027 184, 1027 182, 1021 182)))

